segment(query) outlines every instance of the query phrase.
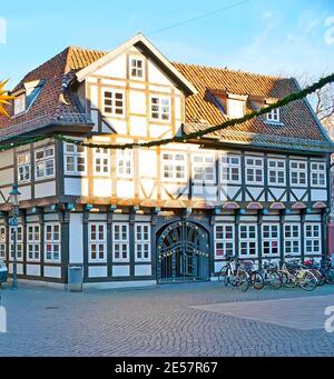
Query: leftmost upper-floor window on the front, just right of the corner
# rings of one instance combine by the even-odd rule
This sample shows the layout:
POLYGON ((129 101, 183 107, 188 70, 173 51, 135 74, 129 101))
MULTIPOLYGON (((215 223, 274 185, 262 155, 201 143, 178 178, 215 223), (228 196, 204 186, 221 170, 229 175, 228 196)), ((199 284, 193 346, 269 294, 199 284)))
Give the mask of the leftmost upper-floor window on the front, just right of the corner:
POLYGON ((84 146, 65 143, 65 173, 84 176, 87 173, 87 150, 84 146))

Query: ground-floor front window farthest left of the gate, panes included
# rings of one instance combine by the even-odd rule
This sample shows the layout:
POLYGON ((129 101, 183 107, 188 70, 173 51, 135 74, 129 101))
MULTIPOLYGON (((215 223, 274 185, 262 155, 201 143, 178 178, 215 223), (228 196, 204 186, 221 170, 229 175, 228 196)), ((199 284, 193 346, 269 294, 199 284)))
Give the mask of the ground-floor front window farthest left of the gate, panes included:
POLYGON ((107 223, 91 222, 88 229, 89 262, 107 261, 107 223))

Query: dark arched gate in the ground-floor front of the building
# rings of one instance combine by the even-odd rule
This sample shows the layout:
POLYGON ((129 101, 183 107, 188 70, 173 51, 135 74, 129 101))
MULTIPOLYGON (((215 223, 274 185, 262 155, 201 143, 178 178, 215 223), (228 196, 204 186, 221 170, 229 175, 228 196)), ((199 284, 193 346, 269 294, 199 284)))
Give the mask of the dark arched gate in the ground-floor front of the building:
POLYGON ((166 227, 157 241, 158 282, 209 280, 209 243, 205 229, 189 221, 166 227))

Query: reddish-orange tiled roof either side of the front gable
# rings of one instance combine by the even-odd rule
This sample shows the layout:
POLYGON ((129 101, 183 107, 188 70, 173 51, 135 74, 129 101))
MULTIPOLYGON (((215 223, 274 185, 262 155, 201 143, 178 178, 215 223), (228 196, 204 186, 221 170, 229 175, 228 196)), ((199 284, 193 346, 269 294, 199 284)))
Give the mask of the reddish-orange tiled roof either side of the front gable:
MULTIPOLYGON (((35 123, 37 118, 57 118, 65 113, 82 112, 78 108, 78 102, 73 100, 71 91, 67 89, 67 84, 71 82, 78 70, 91 64, 105 54, 106 52, 102 51, 69 47, 36 70, 29 72, 14 90, 22 88, 24 82, 33 80, 43 79, 45 86, 28 112, 10 120, 0 116, 0 137, 6 133, 3 129, 9 130, 12 126, 21 124, 18 132, 37 128, 38 126, 35 123)), ((173 64, 198 91, 197 94, 190 96, 186 100, 185 132, 226 121, 227 117, 213 100, 212 93, 215 90, 266 99, 281 99, 298 90, 294 79, 197 64, 173 64)), ((247 110, 252 110, 250 104, 247 110)), ((242 139, 243 142, 247 143, 252 142, 253 134, 327 141, 305 101, 296 101, 284 107, 282 109, 282 126, 273 126, 264 122, 262 118, 257 118, 229 128, 229 133, 219 131, 216 132, 216 136, 222 137, 225 141, 238 141, 242 139), (237 132, 242 137, 232 136, 230 131, 237 132)))

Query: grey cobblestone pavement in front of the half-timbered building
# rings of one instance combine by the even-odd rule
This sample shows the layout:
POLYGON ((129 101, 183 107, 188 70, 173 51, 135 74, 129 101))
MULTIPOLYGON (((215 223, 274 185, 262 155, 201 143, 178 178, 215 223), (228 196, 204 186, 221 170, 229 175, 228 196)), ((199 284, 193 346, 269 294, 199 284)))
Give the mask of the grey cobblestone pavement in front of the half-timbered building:
MULTIPOLYGON (((302 330, 293 322, 293 327, 277 323, 277 317, 266 322, 265 315, 273 315, 267 300, 298 298, 301 315, 305 300, 323 318, 322 307, 334 302, 333 293, 333 286, 313 292, 264 289, 243 293, 218 282, 82 293, 4 289, 8 332, 0 333, 0 356, 334 356, 334 333, 320 329, 318 321, 314 329, 302 330), (263 315, 258 311, 254 317, 257 307, 253 305, 252 319, 247 319, 249 301, 258 301, 254 305, 263 315), (200 308, 222 303, 224 311, 200 308), (233 312, 236 303, 244 305, 240 315, 233 312)), ((282 318, 296 317, 295 310, 293 316, 284 313, 284 300, 278 303, 282 318)))

